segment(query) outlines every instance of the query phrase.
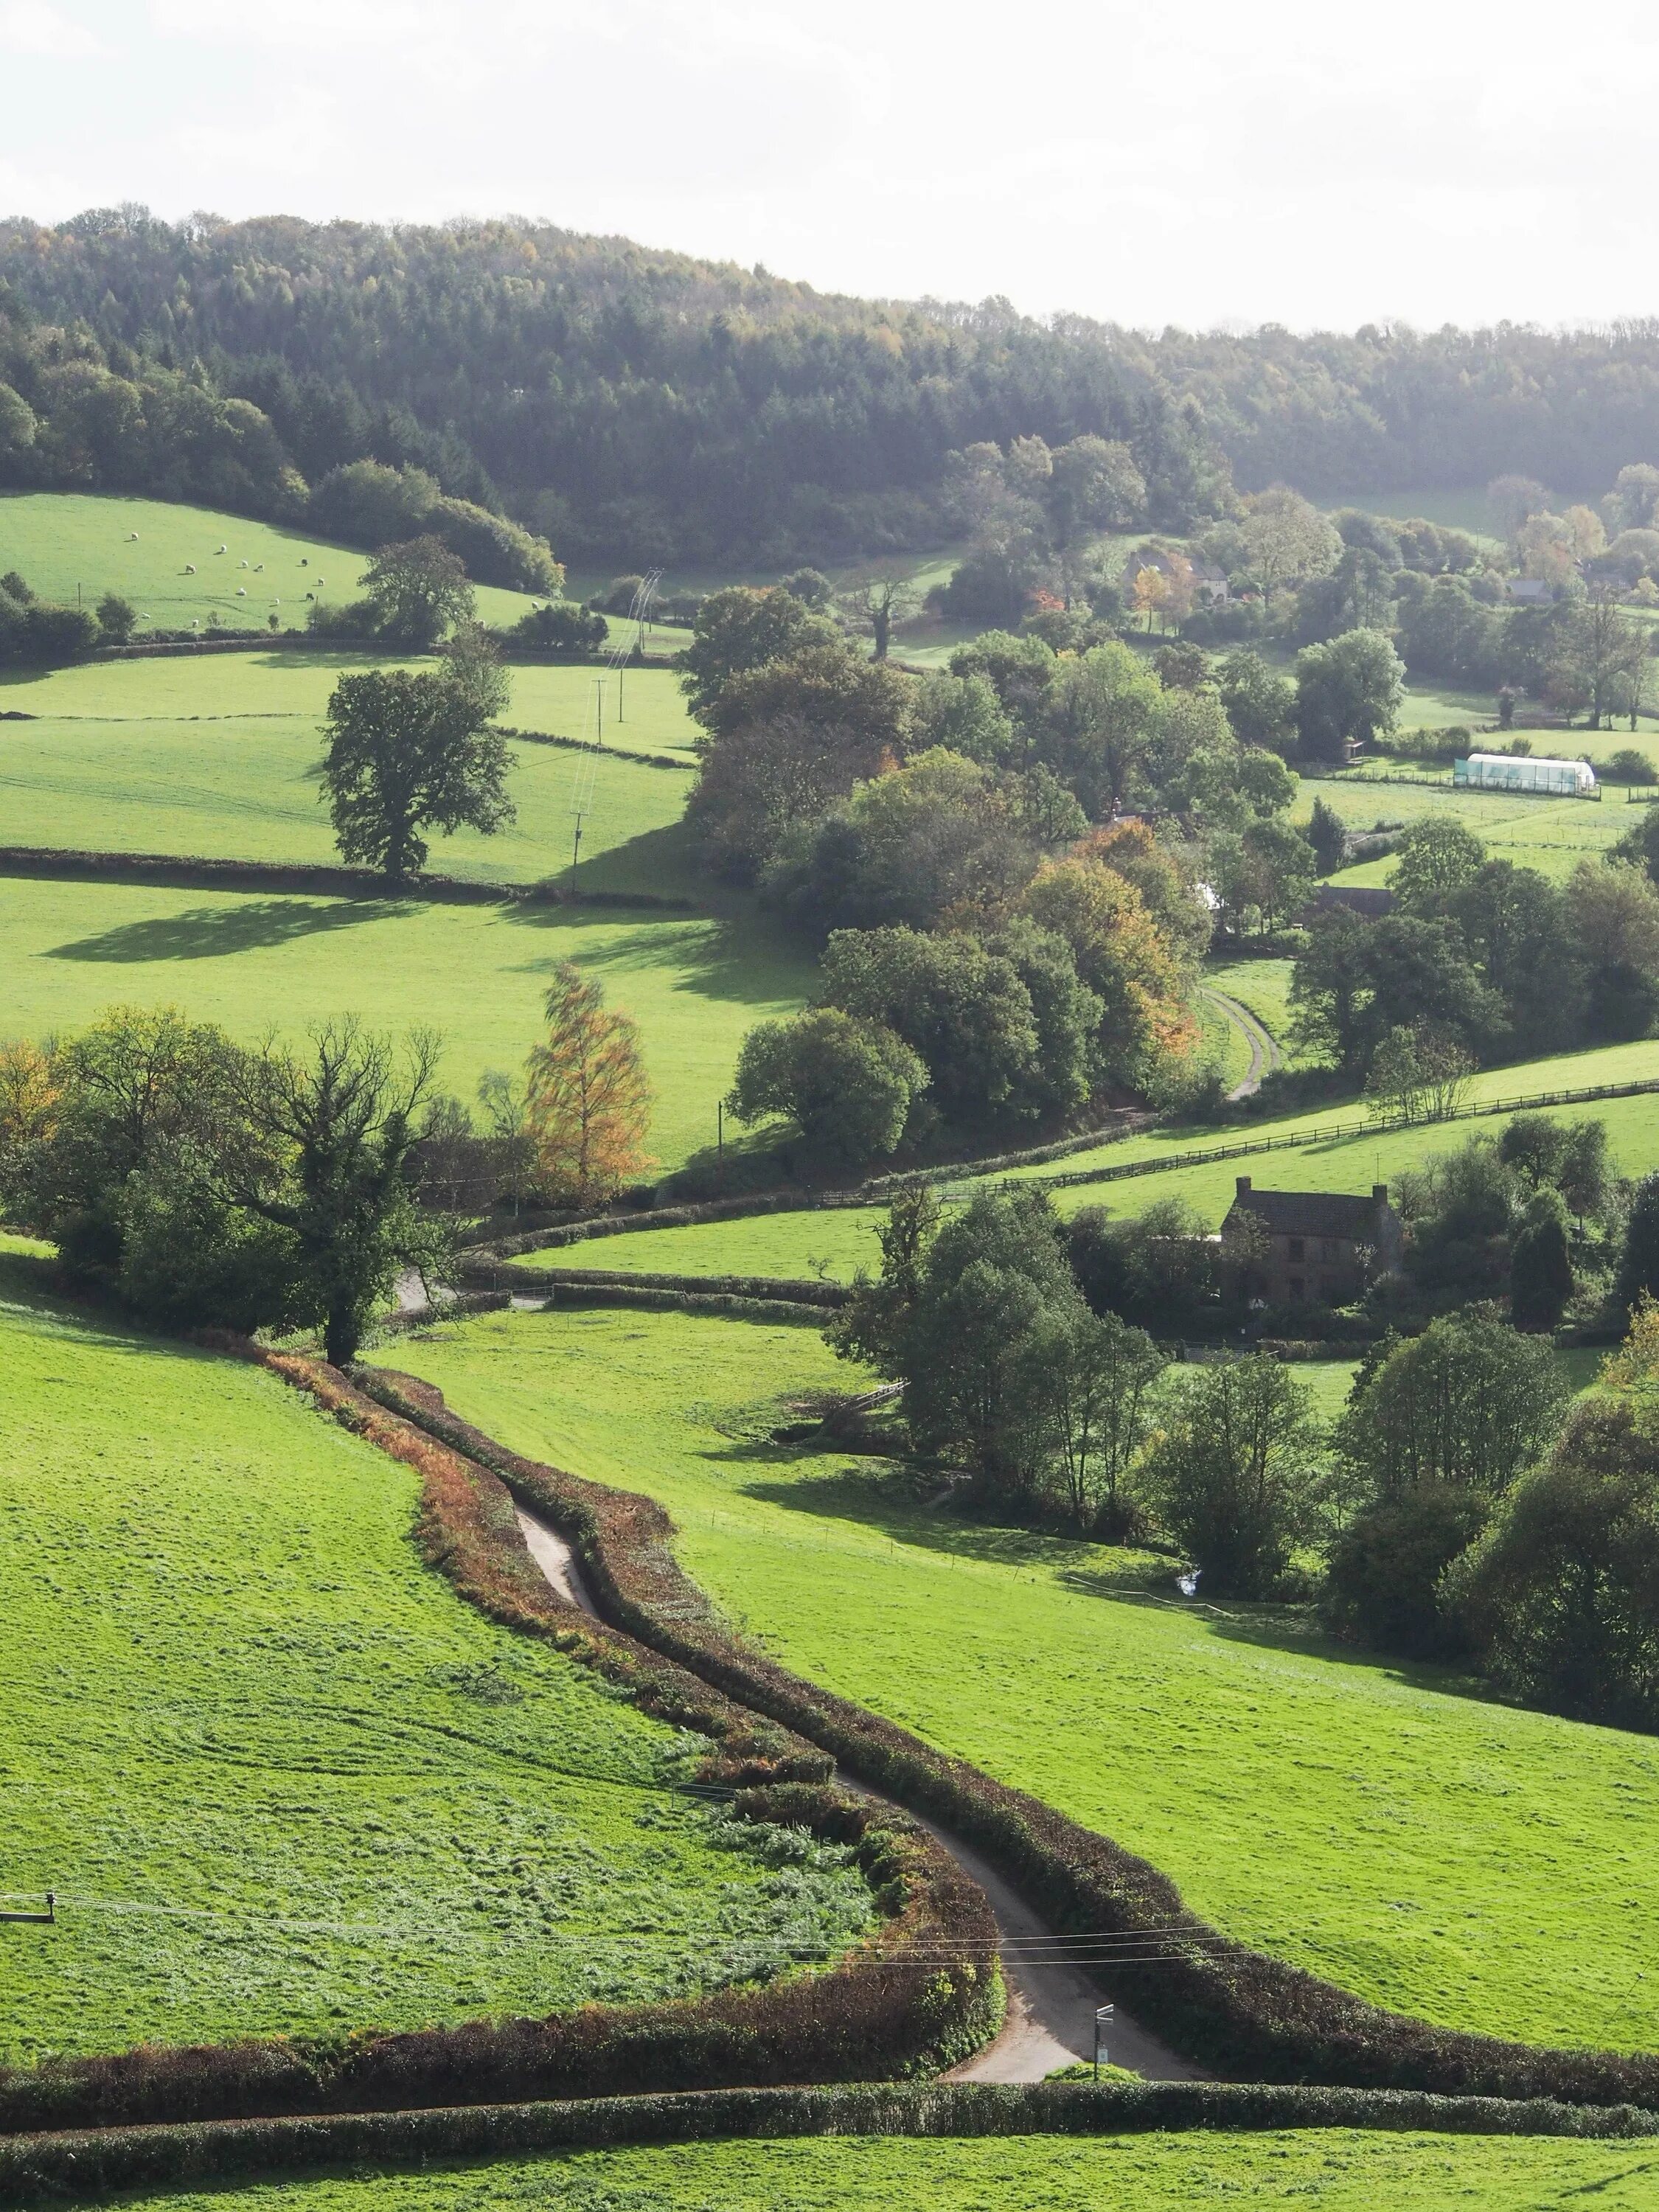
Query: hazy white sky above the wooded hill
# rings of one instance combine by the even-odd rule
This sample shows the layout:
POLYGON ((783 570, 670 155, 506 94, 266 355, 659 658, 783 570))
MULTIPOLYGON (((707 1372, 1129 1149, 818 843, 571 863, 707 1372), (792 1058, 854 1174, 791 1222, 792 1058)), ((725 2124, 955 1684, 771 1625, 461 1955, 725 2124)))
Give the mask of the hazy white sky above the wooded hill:
POLYGON ((1637 0, 0 0, 0 212, 520 212, 1161 325, 1659 310, 1637 0))

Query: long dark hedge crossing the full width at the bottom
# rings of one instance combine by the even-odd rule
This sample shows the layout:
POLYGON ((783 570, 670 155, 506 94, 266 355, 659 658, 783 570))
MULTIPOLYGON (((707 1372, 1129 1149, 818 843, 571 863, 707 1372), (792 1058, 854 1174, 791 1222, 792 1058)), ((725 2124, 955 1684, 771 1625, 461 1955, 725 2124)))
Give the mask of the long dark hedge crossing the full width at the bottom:
POLYGON ((732 2137, 989 2137, 1374 2128, 1389 2135, 1641 2141, 1659 2115, 1546 2099, 1279 2088, 1223 2081, 940 2081, 929 2088, 728 2088, 582 2104, 498 2104, 330 2119, 243 2119, 0 2143, 0 2205, 113 2190, 201 2188, 323 2166, 431 2166, 538 2150, 619 2150, 732 2137))

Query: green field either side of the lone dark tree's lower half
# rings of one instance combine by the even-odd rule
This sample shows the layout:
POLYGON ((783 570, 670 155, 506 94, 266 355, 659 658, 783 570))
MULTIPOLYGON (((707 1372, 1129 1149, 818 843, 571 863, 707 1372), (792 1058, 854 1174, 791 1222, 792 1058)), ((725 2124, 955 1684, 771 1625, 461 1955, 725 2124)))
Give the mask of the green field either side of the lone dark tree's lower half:
MULTIPOLYGON (((690 774, 562 745, 511 752, 518 821, 495 836, 434 832, 431 869, 564 878, 582 796, 577 887, 706 898, 679 830, 690 774)), ((321 757, 303 717, 0 723, 0 843, 336 865, 321 757)))

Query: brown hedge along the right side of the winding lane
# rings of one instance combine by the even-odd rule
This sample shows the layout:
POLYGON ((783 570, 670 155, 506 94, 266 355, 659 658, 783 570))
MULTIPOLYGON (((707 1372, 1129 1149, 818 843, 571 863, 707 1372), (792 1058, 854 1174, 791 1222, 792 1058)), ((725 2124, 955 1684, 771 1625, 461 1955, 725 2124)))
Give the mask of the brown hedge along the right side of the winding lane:
POLYGON ((453 1416, 427 1383, 383 1369, 365 1376, 365 1389, 491 1467, 553 1522, 577 1546, 606 1617, 960 1834, 1053 1929, 1157 1936, 1152 1962, 1093 1971, 1110 1997, 1199 2064, 1265 2081, 1659 2108, 1659 2053, 1551 2051, 1438 2028, 1223 1938, 1144 1858, 732 1637, 675 1562, 675 1524, 655 1500, 518 1458, 453 1416))

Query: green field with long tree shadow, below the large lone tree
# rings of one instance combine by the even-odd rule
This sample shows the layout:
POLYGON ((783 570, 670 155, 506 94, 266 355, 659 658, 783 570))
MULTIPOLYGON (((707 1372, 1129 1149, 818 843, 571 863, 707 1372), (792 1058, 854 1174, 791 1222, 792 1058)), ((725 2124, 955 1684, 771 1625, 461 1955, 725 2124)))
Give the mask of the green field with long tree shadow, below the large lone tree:
POLYGON ((812 987, 810 960, 745 914, 0 878, 0 1035, 77 1029, 115 1002, 173 1002, 241 1037, 361 1013, 380 1029, 442 1031, 440 1082, 469 1097, 484 1068, 522 1064, 560 960, 597 975, 641 1024, 661 1166, 712 1144, 743 1033, 812 987))

